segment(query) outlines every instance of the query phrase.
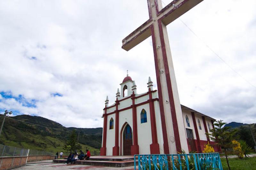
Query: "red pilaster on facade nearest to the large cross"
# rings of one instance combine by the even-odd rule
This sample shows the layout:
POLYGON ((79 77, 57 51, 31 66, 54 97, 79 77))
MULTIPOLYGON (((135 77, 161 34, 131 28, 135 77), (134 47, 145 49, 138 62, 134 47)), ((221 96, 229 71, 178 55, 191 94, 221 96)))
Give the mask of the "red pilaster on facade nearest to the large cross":
POLYGON ((148 88, 149 95, 149 109, 150 109, 150 122, 151 122, 151 136, 152 144, 150 144, 150 153, 151 154, 160 154, 159 144, 157 141, 157 132, 156 132, 156 115, 155 115, 155 106, 154 100, 152 100, 152 91, 150 87, 148 88))

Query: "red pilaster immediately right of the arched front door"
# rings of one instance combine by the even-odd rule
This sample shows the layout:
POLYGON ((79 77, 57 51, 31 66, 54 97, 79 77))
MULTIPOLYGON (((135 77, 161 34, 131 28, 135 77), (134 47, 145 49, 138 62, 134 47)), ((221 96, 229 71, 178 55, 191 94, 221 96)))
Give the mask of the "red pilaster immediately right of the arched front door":
POLYGON ((131 155, 139 154, 138 133, 137 133, 137 110, 135 105, 135 94, 132 92, 132 124, 133 124, 133 145, 131 155))

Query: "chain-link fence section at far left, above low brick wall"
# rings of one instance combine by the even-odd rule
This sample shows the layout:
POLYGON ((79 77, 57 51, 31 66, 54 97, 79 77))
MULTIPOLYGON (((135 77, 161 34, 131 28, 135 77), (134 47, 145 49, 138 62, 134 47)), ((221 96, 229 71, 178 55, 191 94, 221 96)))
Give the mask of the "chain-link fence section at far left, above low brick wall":
POLYGON ((0 156, 27 156, 28 149, 17 148, 0 144, 0 156))

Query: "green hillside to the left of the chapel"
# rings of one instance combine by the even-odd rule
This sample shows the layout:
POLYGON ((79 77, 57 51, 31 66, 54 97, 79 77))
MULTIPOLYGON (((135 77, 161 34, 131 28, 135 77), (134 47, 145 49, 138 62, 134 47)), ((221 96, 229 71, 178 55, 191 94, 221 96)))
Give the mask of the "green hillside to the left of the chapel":
MULTIPOLYGON (((2 121, 3 115, 0 115, 2 121)), ((91 151, 99 151, 102 128, 66 128, 58 122, 30 115, 6 117, 0 144, 56 153, 62 150, 72 130, 77 135, 79 133, 79 143, 83 150, 89 148, 91 151)))

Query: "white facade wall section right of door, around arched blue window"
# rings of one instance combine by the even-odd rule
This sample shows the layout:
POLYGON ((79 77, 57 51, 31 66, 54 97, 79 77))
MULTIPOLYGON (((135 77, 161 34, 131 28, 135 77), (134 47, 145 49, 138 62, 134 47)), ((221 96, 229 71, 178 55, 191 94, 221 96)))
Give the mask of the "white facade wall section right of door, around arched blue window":
POLYGON ((149 104, 141 105, 136 107, 137 109, 137 129, 138 129, 138 144, 140 154, 150 154, 150 144, 152 144, 151 137, 151 120, 149 104), (145 109, 147 112, 147 122, 141 123, 140 112, 145 109))

